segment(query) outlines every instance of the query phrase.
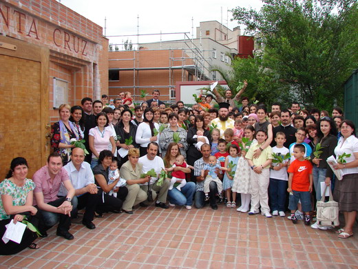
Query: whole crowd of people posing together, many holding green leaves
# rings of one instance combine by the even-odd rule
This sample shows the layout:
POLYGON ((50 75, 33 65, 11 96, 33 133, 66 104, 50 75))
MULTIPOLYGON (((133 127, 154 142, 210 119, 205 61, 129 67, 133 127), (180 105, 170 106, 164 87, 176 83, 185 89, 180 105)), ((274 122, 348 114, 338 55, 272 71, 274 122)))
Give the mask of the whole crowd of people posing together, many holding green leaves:
MULTIPOLYGON (((46 165, 31 180, 27 161, 17 157, 0 183, 1 232, 10 221, 26 218, 41 237, 59 222, 56 235, 71 240, 71 219, 78 210, 84 209, 83 225, 95 229, 94 217, 133 214, 137 205, 151 201, 158 208, 187 210, 207 203, 216 210, 224 201, 227 208, 266 217, 285 217, 288 208, 293 223, 304 219, 326 230, 330 227, 311 223, 310 217, 311 201, 321 199, 324 182, 344 212, 338 237, 352 236, 358 208, 358 139, 352 121, 338 107, 330 117, 317 109, 301 110, 298 103, 289 110, 274 103, 268 114, 265 106, 249 106, 242 97, 237 108, 231 95, 231 90, 225 98, 217 95, 219 109, 210 95, 190 110, 182 101, 167 107, 158 90, 140 106, 130 94, 125 105, 121 98, 109 103, 106 95, 102 101, 85 97, 81 106, 61 105, 46 165), (330 156, 343 179, 335 179, 326 161, 330 156)), ((0 254, 39 248, 34 239, 26 230, 19 244, 1 241, 0 254)))

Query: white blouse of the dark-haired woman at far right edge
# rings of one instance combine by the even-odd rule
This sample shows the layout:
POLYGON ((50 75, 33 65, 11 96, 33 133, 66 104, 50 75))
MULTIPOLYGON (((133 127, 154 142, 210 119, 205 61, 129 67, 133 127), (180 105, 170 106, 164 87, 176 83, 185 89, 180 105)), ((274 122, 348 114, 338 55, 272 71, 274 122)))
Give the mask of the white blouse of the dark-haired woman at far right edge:
MULTIPOLYGON (((354 135, 351 135, 344 141, 344 137, 339 138, 337 147, 335 148, 336 159, 338 156, 343 153, 350 154, 350 157, 346 157, 345 160, 347 163, 355 161, 355 152, 358 152, 358 139, 354 135)), ((358 167, 355 168, 344 168, 342 169, 343 175, 347 174, 357 174, 358 167)))

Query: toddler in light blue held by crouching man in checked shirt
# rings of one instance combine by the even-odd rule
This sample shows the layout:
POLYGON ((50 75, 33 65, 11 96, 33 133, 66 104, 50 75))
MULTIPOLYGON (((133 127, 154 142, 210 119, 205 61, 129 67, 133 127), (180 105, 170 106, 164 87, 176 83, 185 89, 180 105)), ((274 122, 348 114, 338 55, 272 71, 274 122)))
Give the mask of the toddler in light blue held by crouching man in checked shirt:
POLYGON ((209 201, 209 192, 210 192, 210 182, 215 181, 216 185, 218 186, 218 196, 220 199, 222 199, 222 182, 218 178, 218 175, 216 175, 215 170, 216 168, 219 168, 223 171, 229 171, 229 168, 224 168, 218 165, 216 157, 210 156, 209 157, 209 163, 205 164, 204 168, 202 169, 201 176, 204 177, 205 170, 208 170, 208 175, 205 177, 204 180, 204 194, 205 194, 205 201, 209 201))

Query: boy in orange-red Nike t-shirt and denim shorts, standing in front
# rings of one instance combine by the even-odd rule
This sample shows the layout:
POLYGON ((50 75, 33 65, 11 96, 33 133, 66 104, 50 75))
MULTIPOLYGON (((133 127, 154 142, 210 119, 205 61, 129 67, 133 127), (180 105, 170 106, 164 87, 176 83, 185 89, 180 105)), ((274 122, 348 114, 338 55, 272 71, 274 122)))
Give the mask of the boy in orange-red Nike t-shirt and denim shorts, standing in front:
POLYGON ((289 195, 288 209, 291 210, 291 221, 296 224, 298 201, 301 201, 302 210, 305 212, 304 224, 310 225, 310 192, 313 188, 313 166, 310 161, 304 159, 306 148, 304 145, 296 144, 293 146, 293 156, 295 161, 288 167, 288 188, 289 195))

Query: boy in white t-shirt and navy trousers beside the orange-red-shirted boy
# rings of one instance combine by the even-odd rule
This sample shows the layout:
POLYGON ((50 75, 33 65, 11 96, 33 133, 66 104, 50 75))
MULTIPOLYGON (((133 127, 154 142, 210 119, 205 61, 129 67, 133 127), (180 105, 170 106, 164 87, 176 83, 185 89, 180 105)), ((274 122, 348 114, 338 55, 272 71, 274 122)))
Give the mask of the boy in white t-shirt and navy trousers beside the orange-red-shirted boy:
MULTIPOLYGON (((284 157, 284 155, 290 152, 288 148, 284 147, 284 142, 286 142, 284 132, 277 132, 275 141, 277 145, 272 148, 273 153, 284 157)), ((288 163, 289 159, 286 159, 283 163, 272 163, 270 167, 270 186, 268 187, 268 192, 273 216, 285 216, 288 163)))

